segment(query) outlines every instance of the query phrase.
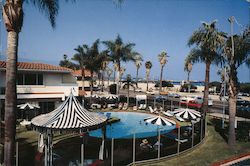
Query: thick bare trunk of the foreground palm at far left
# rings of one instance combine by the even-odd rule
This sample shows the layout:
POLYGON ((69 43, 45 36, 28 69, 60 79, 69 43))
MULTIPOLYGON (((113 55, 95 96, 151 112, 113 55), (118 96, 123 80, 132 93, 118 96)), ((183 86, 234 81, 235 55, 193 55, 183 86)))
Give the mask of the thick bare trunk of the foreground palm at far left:
POLYGON ((17 77, 17 49, 18 33, 8 32, 6 91, 5 91, 5 138, 4 138, 4 165, 14 165, 15 136, 16 136, 16 77, 17 77))

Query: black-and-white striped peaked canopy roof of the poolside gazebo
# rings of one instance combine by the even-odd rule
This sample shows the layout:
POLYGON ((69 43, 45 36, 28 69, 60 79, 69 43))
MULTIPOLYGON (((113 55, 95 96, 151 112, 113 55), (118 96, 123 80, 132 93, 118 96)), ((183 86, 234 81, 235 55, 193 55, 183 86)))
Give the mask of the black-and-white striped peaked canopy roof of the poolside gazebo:
POLYGON ((31 120, 37 129, 52 130, 92 130, 100 127, 107 120, 105 115, 89 112, 83 108, 72 93, 54 111, 39 115, 31 120))

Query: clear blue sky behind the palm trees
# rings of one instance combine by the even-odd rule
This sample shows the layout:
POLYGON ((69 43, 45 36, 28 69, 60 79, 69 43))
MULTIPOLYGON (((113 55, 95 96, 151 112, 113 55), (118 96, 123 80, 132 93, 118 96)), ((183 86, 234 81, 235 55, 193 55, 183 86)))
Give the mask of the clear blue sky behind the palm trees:
MULTIPOLYGON (((114 40, 120 34, 125 43, 136 44, 135 50, 144 59, 139 76, 145 77, 145 62, 153 63, 151 78, 158 79, 160 65, 157 55, 167 51, 170 56, 164 68, 163 78, 184 80, 184 59, 191 50, 187 41, 202 21, 218 20, 220 31, 230 32, 228 18, 234 16, 238 24, 235 33, 241 33, 241 25, 250 22, 250 3, 246 0, 125 0, 117 7, 112 0, 76 0, 75 3, 60 0, 56 28, 47 17, 32 4, 24 3, 24 24, 19 36, 19 61, 42 62, 58 65, 64 54, 69 57, 78 45, 91 45, 96 39, 114 40)), ((1 26, 0 59, 6 59, 6 30, 1 26)), ((101 47, 103 49, 103 47, 101 47)), ((135 76, 135 65, 123 64, 126 74, 135 76)), ((111 65, 112 67, 112 65, 111 65)), ((220 80, 219 67, 212 66, 210 80, 220 80)), ((195 64, 191 80, 204 80, 205 64, 195 64)), ((250 69, 242 66, 238 77, 250 82, 250 69)))

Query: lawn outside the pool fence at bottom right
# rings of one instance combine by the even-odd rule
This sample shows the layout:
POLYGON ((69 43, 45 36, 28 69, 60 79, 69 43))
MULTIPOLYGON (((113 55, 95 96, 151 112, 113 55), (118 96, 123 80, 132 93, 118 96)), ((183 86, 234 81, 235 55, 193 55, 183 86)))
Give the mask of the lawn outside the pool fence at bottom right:
POLYGON ((214 162, 227 159, 232 156, 237 156, 241 153, 250 152, 250 142, 237 142, 236 152, 230 151, 226 141, 215 130, 213 124, 208 125, 208 136, 205 142, 197 147, 197 149, 179 157, 166 159, 153 164, 140 165, 154 165, 154 166, 200 166, 211 165, 214 162))

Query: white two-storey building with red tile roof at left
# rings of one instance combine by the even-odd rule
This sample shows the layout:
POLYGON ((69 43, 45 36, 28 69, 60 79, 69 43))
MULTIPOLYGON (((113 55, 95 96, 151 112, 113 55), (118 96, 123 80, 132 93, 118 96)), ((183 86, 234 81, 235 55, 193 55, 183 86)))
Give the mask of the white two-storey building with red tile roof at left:
MULTIPOLYGON (((52 111, 78 85, 72 70, 43 63, 18 62, 18 104, 30 102, 40 106, 39 113, 52 111)), ((0 61, 0 110, 4 110, 6 62, 0 61)))

